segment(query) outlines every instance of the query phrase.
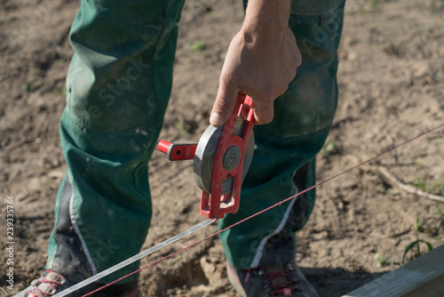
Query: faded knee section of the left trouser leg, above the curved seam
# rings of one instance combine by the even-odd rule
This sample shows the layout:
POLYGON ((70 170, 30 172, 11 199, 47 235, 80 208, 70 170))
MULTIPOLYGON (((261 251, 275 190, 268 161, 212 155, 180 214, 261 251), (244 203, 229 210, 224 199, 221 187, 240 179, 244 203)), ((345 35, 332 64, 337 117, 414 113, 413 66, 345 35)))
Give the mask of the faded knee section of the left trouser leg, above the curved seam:
POLYGON ((162 122, 183 2, 83 1, 70 42, 67 114, 94 132, 162 122))

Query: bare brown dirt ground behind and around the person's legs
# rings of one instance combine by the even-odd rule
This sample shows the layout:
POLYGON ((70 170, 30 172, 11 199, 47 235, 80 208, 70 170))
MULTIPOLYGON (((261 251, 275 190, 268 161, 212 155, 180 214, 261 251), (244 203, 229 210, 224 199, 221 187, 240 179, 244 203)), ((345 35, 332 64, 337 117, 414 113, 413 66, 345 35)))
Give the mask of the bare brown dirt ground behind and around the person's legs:
MULTIPOLYGON (((7 288, 10 265, 2 252, 0 296, 17 293, 44 269, 54 198, 66 170, 58 121, 73 53, 67 34, 79 5, 0 0, 0 247, 5 251, 8 241, 8 196, 14 197, 16 242, 14 291, 7 288)), ((338 52, 340 100, 329 145, 317 158, 318 181, 444 123, 443 14, 439 0, 346 4, 338 52)), ((226 47, 242 17, 237 0, 187 0, 161 138, 199 140, 226 47)), ((416 240, 416 218, 419 238, 433 247, 444 244, 444 217, 435 211, 444 212, 444 205, 410 194, 382 174, 385 170, 404 184, 444 196, 443 136, 441 127, 317 189, 313 216, 297 234, 297 263, 321 296, 340 296, 398 268, 404 250, 416 240)), ((171 164, 155 152, 149 173, 155 217, 143 248, 203 220, 190 162, 171 164)), ((203 229, 141 264, 215 230, 203 229)), ((414 257, 409 252, 406 259, 414 257)), ((217 238, 143 270, 139 280, 143 296, 237 296, 226 280, 217 238)))

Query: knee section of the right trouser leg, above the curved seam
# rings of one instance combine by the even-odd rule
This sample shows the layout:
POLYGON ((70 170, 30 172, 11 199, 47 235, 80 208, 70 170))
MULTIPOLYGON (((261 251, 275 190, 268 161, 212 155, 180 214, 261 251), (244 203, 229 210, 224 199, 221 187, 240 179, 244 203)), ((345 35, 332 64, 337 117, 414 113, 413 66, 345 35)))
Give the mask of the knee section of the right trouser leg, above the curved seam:
POLYGON ((291 138, 331 125, 337 108, 337 47, 343 12, 341 1, 321 14, 290 15, 289 27, 295 34, 302 64, 287 92, 274 101, 274 121, 261 127, 262 133, 291 138))

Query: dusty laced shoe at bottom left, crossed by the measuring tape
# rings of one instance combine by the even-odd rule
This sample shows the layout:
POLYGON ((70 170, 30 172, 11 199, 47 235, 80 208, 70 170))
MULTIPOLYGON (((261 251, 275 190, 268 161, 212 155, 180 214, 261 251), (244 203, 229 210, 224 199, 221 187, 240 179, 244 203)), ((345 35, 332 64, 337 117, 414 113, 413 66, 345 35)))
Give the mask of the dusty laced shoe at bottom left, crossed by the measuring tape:
MULTIPOLYGON (((69 282, 66 277, 53 270, 45 270, 41 277, 33 280, 31 285, 13 297, 48 297, 53 296, 66 289, 69 282)), ((94 283, 88 285, 79 292, 70 294, 71 297, 82 296, 90 293, 103 285, 94 283)), ((137 297, 138 296, 138 282, 132 281, 123 285, 110 285, 105 289, 94 293, 95 297, 137 297)))

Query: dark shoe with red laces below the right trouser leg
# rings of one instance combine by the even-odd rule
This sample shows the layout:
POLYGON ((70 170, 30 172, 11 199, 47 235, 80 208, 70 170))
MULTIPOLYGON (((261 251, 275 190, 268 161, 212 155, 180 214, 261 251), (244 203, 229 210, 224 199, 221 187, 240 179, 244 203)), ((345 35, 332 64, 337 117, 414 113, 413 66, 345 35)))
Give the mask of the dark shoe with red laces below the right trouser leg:
POLYGON ((286 266, 237 269, 227 261, 226 274, 242 297, 319 297, 294 262, 286 266))

